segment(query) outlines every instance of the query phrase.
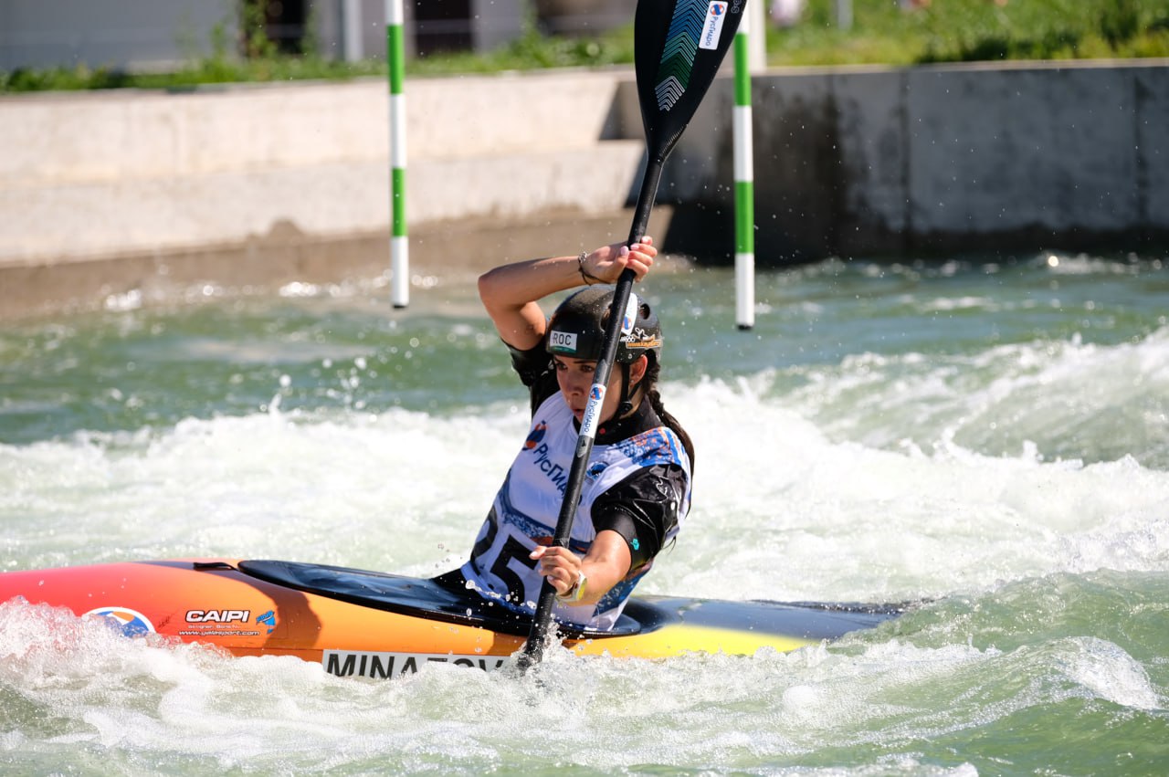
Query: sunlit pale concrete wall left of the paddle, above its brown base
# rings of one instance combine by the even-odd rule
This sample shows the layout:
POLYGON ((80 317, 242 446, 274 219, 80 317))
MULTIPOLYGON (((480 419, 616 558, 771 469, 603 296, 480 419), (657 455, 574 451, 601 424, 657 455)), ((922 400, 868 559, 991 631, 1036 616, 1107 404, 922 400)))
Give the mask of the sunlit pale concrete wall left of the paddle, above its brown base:
MULTIPOLYGON (((600 143, 604 74, 410 84, 413 224, 620 209, 642 145, 600 143), (563 117, 554 132, 533 120, 563 117)), ((0 263, 166 251, 389 220, 381 81, 0 98, 0 263)))

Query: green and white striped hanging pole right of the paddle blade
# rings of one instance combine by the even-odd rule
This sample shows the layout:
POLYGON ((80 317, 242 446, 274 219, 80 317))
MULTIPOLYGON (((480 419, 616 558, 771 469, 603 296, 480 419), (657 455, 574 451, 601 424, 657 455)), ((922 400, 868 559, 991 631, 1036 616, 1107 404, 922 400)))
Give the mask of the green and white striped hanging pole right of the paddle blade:
POLYGON ((740 329, 755 326, 755 167, 750 129, 749 13, 734 39, 734 287, 740 329))

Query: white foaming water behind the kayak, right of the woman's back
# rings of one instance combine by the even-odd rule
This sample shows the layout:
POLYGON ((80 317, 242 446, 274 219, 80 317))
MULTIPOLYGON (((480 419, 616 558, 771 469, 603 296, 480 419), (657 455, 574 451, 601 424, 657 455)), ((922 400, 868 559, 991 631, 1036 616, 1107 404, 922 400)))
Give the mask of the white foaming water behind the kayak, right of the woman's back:
POLYGON ((648 580, 662 592, 898 601, 1167 567, 1169 473, 1130 458, 1085 466, 1026 450, 832 443, 749 381, 675 387, 667 407, 698 462, 694 509, 648 580))

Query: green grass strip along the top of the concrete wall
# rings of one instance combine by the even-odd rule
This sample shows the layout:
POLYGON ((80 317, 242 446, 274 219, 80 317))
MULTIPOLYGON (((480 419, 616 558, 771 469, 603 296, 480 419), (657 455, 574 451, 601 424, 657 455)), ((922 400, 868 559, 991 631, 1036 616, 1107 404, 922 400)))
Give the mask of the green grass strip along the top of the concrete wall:
MULTIPOLYGON (((753 0, 767 2, 767 0, 753 0)), ((835 0, 808 0, 801 21, 767 32, 772 65, 908 65, 927 62, 1169 56, 1169 0, 933 0, 907 12, 898 0, 852 0, 853 25, 837 27, 835 0)), ((545 37, 530 30, 487 54, 416 57, 410 77, 629 64, 632 27, 601 36, 545 37)), ((385 76, 382 62, 316 56, 213 56, 167 74, 112 69, 0 71, 0 93, 77 89, 187 89, 199 84, 344 81, 385 76)))

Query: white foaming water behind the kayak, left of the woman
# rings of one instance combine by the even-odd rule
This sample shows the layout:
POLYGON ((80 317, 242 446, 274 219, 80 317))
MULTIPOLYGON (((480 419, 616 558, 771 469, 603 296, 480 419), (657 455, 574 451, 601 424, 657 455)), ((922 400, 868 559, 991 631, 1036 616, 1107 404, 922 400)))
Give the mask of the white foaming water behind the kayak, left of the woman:
POLYGON ((448 419, 272 410, 0 446, 8 563, 192 554, 437 563, 444 542, 462 553, 473 539, 524 426, 506 410, 448 419))

